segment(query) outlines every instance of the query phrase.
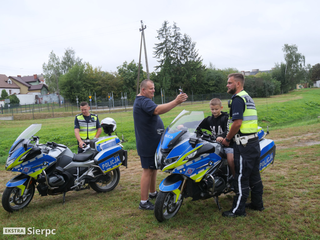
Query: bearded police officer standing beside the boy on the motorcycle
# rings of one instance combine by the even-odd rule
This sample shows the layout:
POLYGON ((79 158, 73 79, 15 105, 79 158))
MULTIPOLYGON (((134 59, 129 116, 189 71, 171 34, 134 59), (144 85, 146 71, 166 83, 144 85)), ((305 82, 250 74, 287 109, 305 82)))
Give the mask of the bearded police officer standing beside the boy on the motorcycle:
POLYGON ((231 210, 222 213, 224 217, 246 216, 245 208, 264 210, 262 202, 263 185, 259 171, 260 145, 257 135, 258 116, 252 98, 243 90, 244 76, 241 73, 228 75, 228 93, 233 94, 229 114, 230 131, 222 141, 229 145, 235 141, 233 154, 236 175, 231 210), (247 203, 251 188, 251 203, 247 203))

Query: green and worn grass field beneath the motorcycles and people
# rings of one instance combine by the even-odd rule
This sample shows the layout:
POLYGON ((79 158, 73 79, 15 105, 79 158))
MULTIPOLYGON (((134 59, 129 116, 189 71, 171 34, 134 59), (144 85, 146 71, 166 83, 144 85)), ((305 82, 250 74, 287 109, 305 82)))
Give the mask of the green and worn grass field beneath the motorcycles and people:
MULTIPOLYGON (((254 101, 259 125, 268 125, 267 138, 281 146, 276 149, 275 164, 261 173, 265 211, 248 210, 245 218, 226 219, 213 199, 191 202, 186 198, 174 218, 158 223, 152 211, 138 209, 142 170, 135 150, 132 111, 99 113, 100 120, 114 118, 117 135, 128 140, 123 144, 129 150, 128 168, 120 167, 118 186, 105 194, 92 189, 68 192, 65 205, 62 195, 40 197, 36 191, 28 207, 19 212, 8 213, 1 206, 0 229, 56 229, 56 234, 48 237, 1 233, 1 239, 320 239, 320 89, 254 101)), ((227 111, 227 102, 222 104, 227 111)), ((183 103, 161 118, 167 126, 183 109, 204 111, 208 116, 208 105, 183 103)), ((42 124, 37 133, 40 142, 55 141, 76 152, 74 117, 0 121, 0 195, 15 175, 4 171, 9 148, 33 123, 42 124)), ((158 171, 158 185, 166 176, 158 171)), ((223 211, 230 209, 232 200, 232 193, 220 196, 223 211)))

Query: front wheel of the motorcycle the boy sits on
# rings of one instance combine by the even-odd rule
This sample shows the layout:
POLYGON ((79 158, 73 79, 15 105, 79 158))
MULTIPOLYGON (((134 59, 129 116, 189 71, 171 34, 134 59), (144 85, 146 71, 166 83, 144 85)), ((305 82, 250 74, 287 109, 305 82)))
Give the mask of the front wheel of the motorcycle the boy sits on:
POLYGON ((174 202, 174 195, 172 192, 158 193, 155 203, 155 217, 159 222, 172 218, 177 214, 183 202, 183 196, 177 203, 174 202))

